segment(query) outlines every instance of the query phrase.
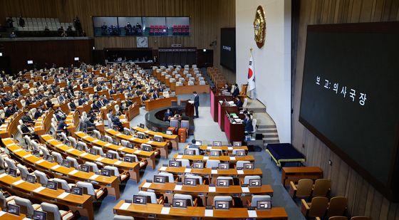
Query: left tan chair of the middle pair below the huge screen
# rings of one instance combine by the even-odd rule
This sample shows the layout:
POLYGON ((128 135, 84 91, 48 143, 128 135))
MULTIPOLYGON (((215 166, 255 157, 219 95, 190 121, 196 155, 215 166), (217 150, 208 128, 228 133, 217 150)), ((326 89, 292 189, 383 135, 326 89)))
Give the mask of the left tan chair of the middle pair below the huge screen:
POLYGON ((314 197, 309 203, 305 199, 301 199, 301 212, 305 217, 324 216, 327 206, 327 197, 314 197))

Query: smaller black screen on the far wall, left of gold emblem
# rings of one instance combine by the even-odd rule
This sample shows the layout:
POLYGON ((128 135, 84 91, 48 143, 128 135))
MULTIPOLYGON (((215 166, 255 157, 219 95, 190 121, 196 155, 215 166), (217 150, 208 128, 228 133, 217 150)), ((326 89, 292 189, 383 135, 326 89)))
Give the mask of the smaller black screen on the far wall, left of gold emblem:
POLYGON ((236 70, 236 28, 220 29, 220 65, 236 70))

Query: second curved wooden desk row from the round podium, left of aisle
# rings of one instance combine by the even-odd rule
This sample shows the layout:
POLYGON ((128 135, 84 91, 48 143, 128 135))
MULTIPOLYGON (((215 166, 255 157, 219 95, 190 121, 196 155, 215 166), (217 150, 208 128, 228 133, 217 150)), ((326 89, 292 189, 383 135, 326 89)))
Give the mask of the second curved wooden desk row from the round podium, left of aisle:
POLYGON ((155 141, 148 140, 148 139, 140 139, 140 138, 133 137, 132 135, 125 135, 125 134, 118 132, 116 130, 113 130, 113 129, 105 129, 105 133, 110 135, 111 137, 117 138, 118 140, 127 140, 129 142, 132 142, 135 145, 141 145, 141 144, 151 145, 155 149, 160 150, 161 157, 164 157, 164 158, 167 158, 167 155, 169 153, 169 151, 167 149, 167 145, 168 145, 167 142, 155 142, 155 141))

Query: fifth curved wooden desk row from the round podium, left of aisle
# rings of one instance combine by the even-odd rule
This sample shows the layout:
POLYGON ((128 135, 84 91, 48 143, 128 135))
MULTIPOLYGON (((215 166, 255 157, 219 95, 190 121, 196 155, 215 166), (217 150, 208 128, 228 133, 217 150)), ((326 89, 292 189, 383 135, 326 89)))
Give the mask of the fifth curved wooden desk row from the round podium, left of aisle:
POLYGON ((98 185, 107 187, 108 194, 113 195, 116 199, 120 197, 119 184, 120 179, 118 177, 105 177, 94 172, 82 172, 78 171, 73 167, 62 167, 56 162, 48 162, 43 157, 36 157, 31 152, 24 150, 19 145, 16 145, 14 140, 6 139, 3 140, 10 154, 17 157, 23 164, 29 164, 35 169, 39 169, 42 172, 53 174, 54 177, 60 179, 71 179, 73 182, 85 182, 88 179, 98 182, 98 185))

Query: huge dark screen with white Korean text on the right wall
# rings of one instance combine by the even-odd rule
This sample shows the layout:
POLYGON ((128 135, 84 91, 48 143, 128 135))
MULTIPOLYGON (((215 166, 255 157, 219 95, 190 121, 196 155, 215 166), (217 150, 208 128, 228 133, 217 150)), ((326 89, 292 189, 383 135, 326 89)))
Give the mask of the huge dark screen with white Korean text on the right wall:
POLYGON ((399 172, 398 30, 398 22, 308 26, 299 114, 385 195, 399 172))

